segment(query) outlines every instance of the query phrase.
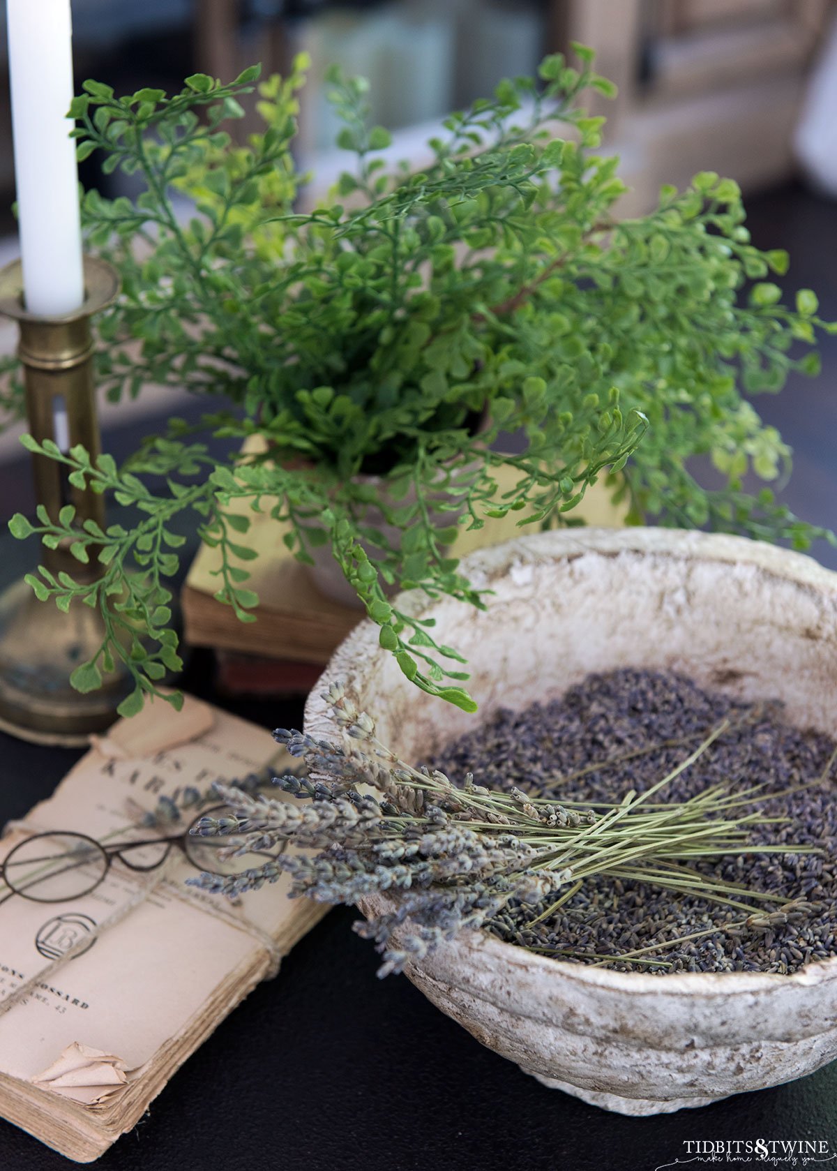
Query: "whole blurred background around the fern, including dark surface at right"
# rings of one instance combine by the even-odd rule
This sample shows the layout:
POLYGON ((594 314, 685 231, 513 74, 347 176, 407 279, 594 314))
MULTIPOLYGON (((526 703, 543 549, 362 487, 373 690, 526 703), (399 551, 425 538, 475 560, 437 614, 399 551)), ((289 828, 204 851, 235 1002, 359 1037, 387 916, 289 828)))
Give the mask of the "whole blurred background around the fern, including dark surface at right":
MULTIPOLYGON (((754 241, 787 248, 788 287, 812 287, 823 315, 837 317, 837 0, 73 0, 73 11, 77 88, 95 77, 121 93, 172 90, 190 73, 228 80, 255 61, 267 75, 307 50, 299 153, 317 176, 307 201, 341 167, 323 93, 330 62, 370 80, 375 121, 395 131, 390 153, 420 166, 426 138, 451 109, 582 41, 619 85, 616 101, 594 104, 608 115, 605 149, 620 155, 631 187, 622 213, 642 213, 661 183, 684 185, 698 170, 735 178, 754 241)), ((2 73, 1 29, 0 46, 2 73)), ((82 179, 111 196, 124 182, 98 174, 95 157, 82 179)), ((16 254, 13 198, 0 81, 0 261, 16 254)), ((837 337, 830 342, 817 381, 795 378, 756 406, 795 448, 787 502, 837 527, 837 337)), ((164 410, 183 413, 153 391, 105 408, 107 445, 118 456, 164 410)), ((0 498, 5 515, 32 508, 14 433, 0 436, 0 498)), ((837 567, 837 552, 815 553, 837 567)))

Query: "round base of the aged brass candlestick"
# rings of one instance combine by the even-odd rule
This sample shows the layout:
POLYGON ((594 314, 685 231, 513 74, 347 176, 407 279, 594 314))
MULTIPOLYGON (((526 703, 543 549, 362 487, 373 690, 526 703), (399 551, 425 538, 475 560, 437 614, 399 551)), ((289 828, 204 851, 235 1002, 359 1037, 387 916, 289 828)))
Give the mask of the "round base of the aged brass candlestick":
POLYGON ((96 610, 74 602, 67 614, 39 602, 26 582, 0 595, 0 728, 34 744, 83 746, 116 719, 128 692, 126 672, 80 694, 70 673, 104 638, 96 610))

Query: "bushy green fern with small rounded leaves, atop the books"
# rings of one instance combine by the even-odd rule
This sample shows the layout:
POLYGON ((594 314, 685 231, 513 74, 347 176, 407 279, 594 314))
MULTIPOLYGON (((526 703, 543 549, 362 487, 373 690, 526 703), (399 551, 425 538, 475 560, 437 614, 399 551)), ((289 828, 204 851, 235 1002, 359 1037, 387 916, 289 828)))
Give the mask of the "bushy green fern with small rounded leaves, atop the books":
POLYGON ((205 427, 232 443, 217 465, 174 420, 117 470, 28 441, 73 484, 140 514, 104 534, 68 509, 12 521, 18 535, 69 541, 102 568, 84 584, 43 570, 33 582, 39 596, 81 597, 105 616, 100 660, 77 685, 125 658, 136 691, 123 710, 135 711, 176 664, 165 580, 183 512, 220 548, 217 596, 242 621, 258 601, 240 563, 252 555, 247 505, 287 522, 301 561, 330 546, 380 645, 419 687, 466 708, 455 649, 390 601, 395 587, 416 587, 481 604, 450 555, 460 526, 510 511, 521 525, 572 523, 605 475, 633 522, 797 547, 825 535, 769 491, 743 492, 750 467, 774 479, 789 452, 741 388, 777 391, 791 370, 814 374, 807 347, 831 327, 810 292, 782 303, 767 278, 787 255, 750 244, 728 179, 705 172, 685 192, 663 189, 649 215, 612 218, 625 190, 618 160, 598 152, 603 119, 579 98, 613 88, 589 49, 575 52, 577 67, 547 57, 540 77, 503 81, 451 115, 420 173, 387 165, 390 136, 368 124, 365 83, 331 70, 338 144, 356 165, 311 211, 297 210, 307 177, 291 155, 303 60, 259 87, 265 130, 246 145, 222 125, 242 115, 256 68, 226 85, 198 74, 172 97, 118 98, 85 82, 71 111, 80 157, 100 151, 105 171, 143 187, 136 199, 84 197, 90 245, 123 279, 97 327, 101 384, 114 399, 152 383, 224 395, 228 410, 205 427), (520 434, 519 453, 494 450, 501 430, 520 434), (253 436, 265 451, 241 460, 253 436), (687 459, 701 453, 725 473, 721 491, 693 479, 687 459), (502 465, 517 473, 510 489, 498 482, 502 465))

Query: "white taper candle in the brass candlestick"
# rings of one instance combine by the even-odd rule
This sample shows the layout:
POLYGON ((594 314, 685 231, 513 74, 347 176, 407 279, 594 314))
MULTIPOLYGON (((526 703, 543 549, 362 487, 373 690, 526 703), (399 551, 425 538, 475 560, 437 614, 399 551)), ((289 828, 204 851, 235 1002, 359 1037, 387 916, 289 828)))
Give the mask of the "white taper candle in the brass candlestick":
POLYGON ((26 308, 61 316, 84 300, 70 0, 7 0, 7 16, 26 308))

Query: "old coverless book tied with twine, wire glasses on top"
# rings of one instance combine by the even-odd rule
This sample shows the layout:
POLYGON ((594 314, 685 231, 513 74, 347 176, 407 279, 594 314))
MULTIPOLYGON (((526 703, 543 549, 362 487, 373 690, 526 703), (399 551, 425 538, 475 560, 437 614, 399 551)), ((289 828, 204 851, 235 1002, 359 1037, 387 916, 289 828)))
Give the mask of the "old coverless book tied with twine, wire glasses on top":
MULTIPOLYGON (((187 788, 290 763, 262 728, 191 697, 179 714, 157 700, 95 739, 55 794, 7 827, 0 858, 34 833, 75 831, 111 849, 169 837, 201 808, 187 788), (162 808, 171 816, 160 797, 184 806, 179 819, 140 824, 162 808)), ((163 849, 132 861, 158 861, 163 849)), ((132 870, 116 855, 103 870, 100 885, 64 902, 12 895, 0 936, 0 1115, 82 1163, 136 1124, 325 910, 283 897, 284 878, 234 903, 188 886, 198 870, 177 843, 159 869, 132 870)))

